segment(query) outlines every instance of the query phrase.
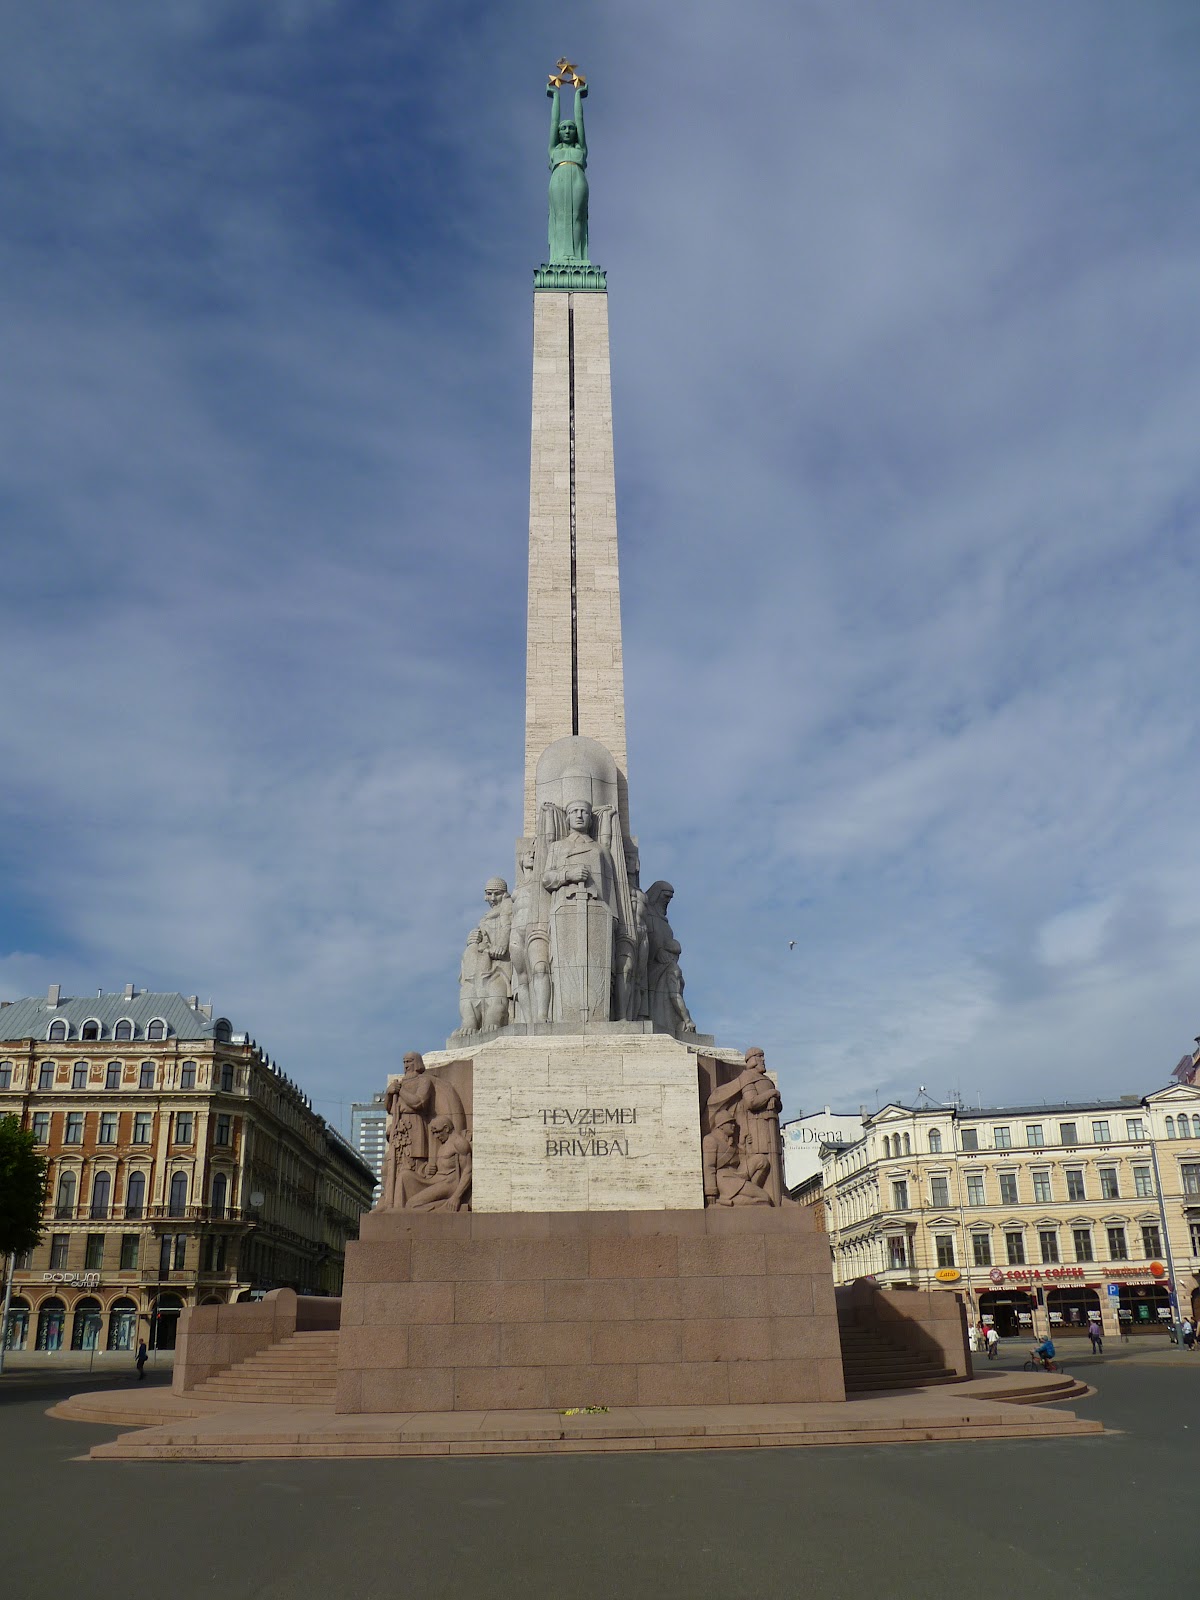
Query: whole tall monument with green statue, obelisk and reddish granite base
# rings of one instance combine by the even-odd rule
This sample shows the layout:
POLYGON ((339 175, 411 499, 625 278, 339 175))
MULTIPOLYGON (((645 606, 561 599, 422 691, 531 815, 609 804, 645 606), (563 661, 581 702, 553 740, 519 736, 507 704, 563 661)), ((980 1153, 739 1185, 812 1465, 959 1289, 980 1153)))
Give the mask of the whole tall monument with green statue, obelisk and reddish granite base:
POLYGON ((642 886, 587 85, 560 61, 547 94, 523 832, 466 936, 458 1029, 387 1085, 336 1406, 842 1400, 829 1250, 782 1189, 779 1091, 760 1050, 698 1032, 675 890, 642 886))

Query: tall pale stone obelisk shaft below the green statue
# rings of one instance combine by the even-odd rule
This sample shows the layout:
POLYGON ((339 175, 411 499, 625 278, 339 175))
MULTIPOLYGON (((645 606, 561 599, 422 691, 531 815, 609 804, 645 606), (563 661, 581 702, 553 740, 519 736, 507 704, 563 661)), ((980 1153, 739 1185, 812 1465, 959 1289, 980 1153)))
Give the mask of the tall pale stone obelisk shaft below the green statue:
MULTIPOLYGON (((586 160, 586 144, 578 149, 586 160)), ((555 253, 552 218, 550 256, 555 253)), ((574 254, 581 253, 582 261, 552 259, 534 274, 525 662, 530 837, 536 827, 538 758, 555 739, 573 733, 597 739, 613 755, 621 826, 629 835, 608 288, 600 267, 586 259, 586 234, 582 243, 574 240, 574 254)))

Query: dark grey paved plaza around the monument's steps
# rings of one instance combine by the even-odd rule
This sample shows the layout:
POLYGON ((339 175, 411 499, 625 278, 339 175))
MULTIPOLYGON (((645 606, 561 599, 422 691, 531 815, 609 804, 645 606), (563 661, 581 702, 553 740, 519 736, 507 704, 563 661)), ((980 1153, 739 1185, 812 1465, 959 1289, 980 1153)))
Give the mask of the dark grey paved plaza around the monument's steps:
MULTIPOLYGON (((1019 1363, 1010 1347, 1000 1365, 1019 1363)), ((986 1363, 984 1363, 986 1365, 986 1363)), ((88 1462, 112 1430, 45 1408, 86 1381, 0 1379, 13 1595, 352 1594, 522 1600, 1053 1594, 1190 1581, 1200 1357, 1066 1365, 1110 1432, 1024 1443, 654 1456, 88 1462)), ((98 1381, 110 1386, 112 1376, 98 1381)))

